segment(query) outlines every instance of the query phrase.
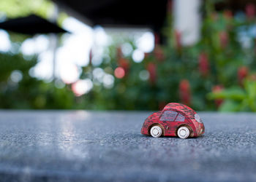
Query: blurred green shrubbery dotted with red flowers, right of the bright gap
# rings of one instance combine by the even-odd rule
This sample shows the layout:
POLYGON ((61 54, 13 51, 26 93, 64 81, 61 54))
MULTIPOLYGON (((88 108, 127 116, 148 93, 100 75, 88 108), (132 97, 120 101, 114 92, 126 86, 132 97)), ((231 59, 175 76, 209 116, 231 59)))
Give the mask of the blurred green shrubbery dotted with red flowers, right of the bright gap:
POLYGON ((211 1, 205 1, 202 9, 201 39, 195 45, 181 45, 183 35, 173 28, 169 14, 163 30, 167 44, 156 42, 142 63, 120 53, 127 43, 136 50, 132 42, 108 47, 108 56, 98 67, 113 76, 116 68, 123 68, 125 76, 116 78, 111 89, 94 84, 95 107, 157 110, 168 102, 182 102, 196 110, 255 111, 252 93, 256 88, 253 81, 243 82, 247 69, 239 72, 255 67, 255 11, 250 10, 255 5, 248 4, 245 13, 236 17, 230 10, 215 12, 211 1), (236 87, 236 92, 230 87, 236 87), (216 95, 222 92, 222 96, 216 95))

